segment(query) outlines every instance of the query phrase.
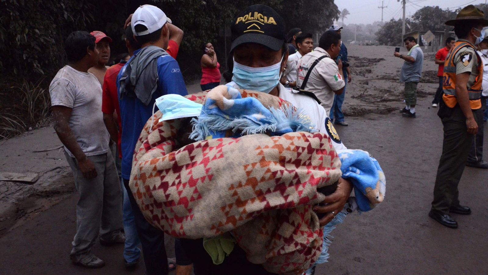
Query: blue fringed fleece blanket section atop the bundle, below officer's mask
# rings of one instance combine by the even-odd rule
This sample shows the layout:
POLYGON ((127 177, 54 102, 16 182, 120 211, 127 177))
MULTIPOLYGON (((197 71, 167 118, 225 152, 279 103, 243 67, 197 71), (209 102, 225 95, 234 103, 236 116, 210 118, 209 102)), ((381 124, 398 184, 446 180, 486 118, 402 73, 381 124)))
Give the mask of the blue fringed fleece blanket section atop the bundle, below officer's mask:
POLYGON ((291 106, 266 108, 257 98, 243 98, 235 88, 218 86, 206 96, 200 116, 192 119, 190 138, 203 140, 258 133, 281 136, 290 132, 317 132, 315 124, 302 113, 301 109, 291 106), (229 129, 232 133, 227 131, 229 129))

